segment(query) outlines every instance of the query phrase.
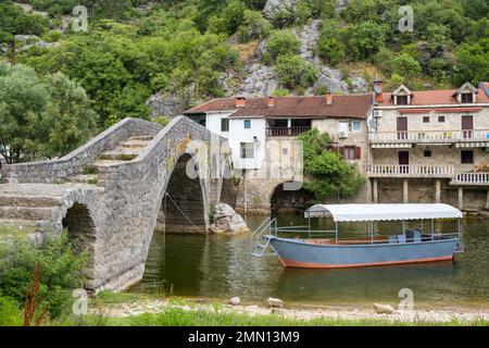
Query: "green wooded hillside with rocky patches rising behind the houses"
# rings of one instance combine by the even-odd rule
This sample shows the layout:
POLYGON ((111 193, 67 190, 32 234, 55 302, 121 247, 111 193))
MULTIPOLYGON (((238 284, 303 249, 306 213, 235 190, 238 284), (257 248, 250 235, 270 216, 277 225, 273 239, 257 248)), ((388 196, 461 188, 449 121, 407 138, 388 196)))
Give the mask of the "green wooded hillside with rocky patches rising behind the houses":
POLYGON ((20 2, 46 16, 3 1, 3 59, 79 83, 101 127, 150 117, 154 94, 171 96, 178 110, 233 95, 256 57, 273 72, 276 95, 326 91, 322 66, 340 71, 349 85, 351 76, 365 86, 377 76, 387 87, 413 89, 489 77, 489 0, 350 0, 346 8, 336 0, 20 2), (89 10, 87 33, 75 33, 70 22, 78 3, 89 10), (399 8, 406 3, 414 30, 402 33, 399 8), (318 38, 314 58, 304 59, 297 32, 312 21, 319 23, 318 38))

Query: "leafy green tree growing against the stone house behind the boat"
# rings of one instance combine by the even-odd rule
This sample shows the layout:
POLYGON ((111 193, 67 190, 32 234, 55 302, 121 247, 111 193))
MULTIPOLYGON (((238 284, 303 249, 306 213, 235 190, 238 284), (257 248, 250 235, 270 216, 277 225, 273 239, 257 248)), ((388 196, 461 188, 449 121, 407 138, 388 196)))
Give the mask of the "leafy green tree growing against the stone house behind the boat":
POLYGON ((338 195, 355 195, 365 178, 348 164, 342 156, 331 150, 333 139, 327 133, 313 128, 299 136, 303 141, 304 188, 314 194, 317 201, 338 195))

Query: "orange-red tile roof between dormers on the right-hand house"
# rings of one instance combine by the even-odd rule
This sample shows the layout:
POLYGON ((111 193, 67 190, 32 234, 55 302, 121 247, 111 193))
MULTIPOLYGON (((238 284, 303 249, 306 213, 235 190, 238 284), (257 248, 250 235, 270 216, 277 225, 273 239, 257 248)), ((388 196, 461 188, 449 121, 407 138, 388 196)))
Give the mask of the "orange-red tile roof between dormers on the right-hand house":
MULTIPOLYGON (((489 96, 482 88, 478 89, 477 102, 489 102, 489 96)), ((432 105, 432 104, 459 104, 455 99, 455 89, 418 90, 413 91, 411 105, 432 105)), ((384 102, 380 105, 393 105, 390 92, 384 94, 384 102)))

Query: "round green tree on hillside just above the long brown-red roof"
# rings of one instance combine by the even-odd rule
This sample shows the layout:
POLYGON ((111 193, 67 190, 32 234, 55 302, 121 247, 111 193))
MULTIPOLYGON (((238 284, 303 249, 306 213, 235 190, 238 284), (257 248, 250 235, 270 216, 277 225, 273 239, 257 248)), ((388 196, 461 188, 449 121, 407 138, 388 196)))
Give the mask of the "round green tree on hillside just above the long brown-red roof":
POLYGON ((275 70, 278 84, 291 90, 311 87, 318 76, 318 71, 313 64, 296 54, 279 55, 275 70))

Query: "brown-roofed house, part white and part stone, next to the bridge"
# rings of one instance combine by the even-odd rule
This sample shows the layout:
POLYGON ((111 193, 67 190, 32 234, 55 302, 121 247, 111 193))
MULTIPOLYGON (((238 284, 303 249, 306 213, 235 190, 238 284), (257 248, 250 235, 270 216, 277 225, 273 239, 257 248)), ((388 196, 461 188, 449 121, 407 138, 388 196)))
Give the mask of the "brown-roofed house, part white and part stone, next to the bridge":
MULTIPOLYGON (((301 161, 296 156, 300 153, 296 138, 311 128, 328 133, 334 139, 334 149, 340 151, 359 172, 366 174, 366 120, 372 113, 372 104, 371 94, 237 97, 214 99, 184 114, 228 139, 234 166, 242 175, 237 210, 269 213, 271 199, 277 188, 290 190, 291 196, 300 196, 296 194, 303 176, 301 161), (291 167, 292 172, 284 167, 291 167)), ((369 190, 359 199, 367 200, 367 194, 369 190)))

